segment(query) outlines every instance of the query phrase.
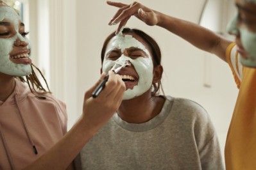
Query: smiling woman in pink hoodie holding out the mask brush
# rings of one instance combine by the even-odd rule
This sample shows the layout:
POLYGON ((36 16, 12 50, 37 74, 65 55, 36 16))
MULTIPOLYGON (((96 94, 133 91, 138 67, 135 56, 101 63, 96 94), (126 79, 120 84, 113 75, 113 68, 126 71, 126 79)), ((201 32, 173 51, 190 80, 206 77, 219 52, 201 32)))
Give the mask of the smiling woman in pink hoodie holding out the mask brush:
MULTIPOLYGON (((73 159, 117 110, 124 82, 109 72, 97 98, 85 92, 83 113, 67 132, 65 104, 39 81, 24 23, 0 1, 0 169, 73 169, 73 159)), ((46 83, 47 84, 47 83, 46 83)))

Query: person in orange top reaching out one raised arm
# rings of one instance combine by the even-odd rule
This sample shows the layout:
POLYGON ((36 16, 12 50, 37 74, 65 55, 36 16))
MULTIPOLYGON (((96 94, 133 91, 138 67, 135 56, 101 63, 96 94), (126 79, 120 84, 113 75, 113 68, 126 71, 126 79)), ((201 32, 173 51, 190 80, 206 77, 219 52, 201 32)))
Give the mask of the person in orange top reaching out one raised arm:
POLYGON ((255 169, 256 1, 235 1, 237 15, 228 25, 228 32, 236 36, 235 43, 225 40, 209 29, 151 10, 137 2, 127 5, 107 1, 107 4, 119 8, 108 22, 109 25, 120 22, 116 33, 134 15, 149 26, 163 27, 195 47, 216 54, 230 65, 239 95, 226 138, 226 169, 255 169))

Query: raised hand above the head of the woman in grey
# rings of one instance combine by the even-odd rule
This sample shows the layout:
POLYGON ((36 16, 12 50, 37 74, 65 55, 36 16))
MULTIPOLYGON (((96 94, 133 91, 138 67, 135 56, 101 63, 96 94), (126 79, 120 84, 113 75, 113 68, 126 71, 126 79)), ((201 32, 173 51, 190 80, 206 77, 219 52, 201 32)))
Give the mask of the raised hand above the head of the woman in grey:
POLYGON ((125 26, 132 15, 142 20, 149 26, 155 26, 158 24, 158 12, 151 10, 141 3, 133 2, 132 4, 123 4, 107 1, 107 4, 119 8, 114 17, 110 20, 110 22, 108 22, 108 25, 110 26, 120 22, 115 34, 119 33, 121 27, 125 26))

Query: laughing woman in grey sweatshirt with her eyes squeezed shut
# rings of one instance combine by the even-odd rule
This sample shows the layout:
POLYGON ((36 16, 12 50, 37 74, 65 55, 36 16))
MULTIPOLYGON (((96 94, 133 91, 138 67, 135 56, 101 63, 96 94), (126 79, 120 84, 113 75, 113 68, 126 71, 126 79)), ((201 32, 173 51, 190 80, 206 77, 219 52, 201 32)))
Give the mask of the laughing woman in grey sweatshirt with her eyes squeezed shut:
POLYGON ((161 59, 157 42, 139 29, 125 27, 106 38, 102 70, 129 62, 118 72, 126 91, 114 116, 80 151, 78 169, 225 169, 205 109, 159 94, 161 59))

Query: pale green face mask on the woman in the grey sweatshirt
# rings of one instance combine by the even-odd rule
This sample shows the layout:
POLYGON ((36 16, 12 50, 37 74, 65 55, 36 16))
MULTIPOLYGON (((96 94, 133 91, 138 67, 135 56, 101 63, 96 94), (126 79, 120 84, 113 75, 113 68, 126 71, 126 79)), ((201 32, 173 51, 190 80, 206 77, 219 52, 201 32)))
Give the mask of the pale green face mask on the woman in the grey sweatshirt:
POLYGON ((145 93, 146 91, 148 91, 148 89, 151 88, 152 81, 153 81, 153 61, 146 47, 141 42, 133 38, 132 35, 124 35, 124 36, 116 35, 108 43, 108 48, 105 54, 107 54, 109 51, 114 49, 120 49, 122 52, 122 55, 116 61, 107 59, 105 56, 103 60, 103 68, 102 68, 103 72, 108 72, 108 70, 110 70, 112 66, 115 65, 116 62, 124 62, 128 60, 130 61, 130 63, 132 63, 136 72, 139 75, 139 82, 137 86, 134 86, 133 89, 127 89, 124 92, 123 100, 129 100, 129 99, 138 97, 143 93, 145 93), (146 58, 139 57, 136 59, 132 59, 129 56, 124 56, 123 54, 124 50, 130 47, 135 47, 146 52, 147 54, 146 58))

